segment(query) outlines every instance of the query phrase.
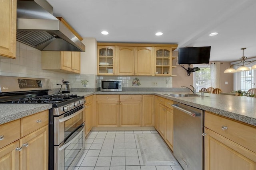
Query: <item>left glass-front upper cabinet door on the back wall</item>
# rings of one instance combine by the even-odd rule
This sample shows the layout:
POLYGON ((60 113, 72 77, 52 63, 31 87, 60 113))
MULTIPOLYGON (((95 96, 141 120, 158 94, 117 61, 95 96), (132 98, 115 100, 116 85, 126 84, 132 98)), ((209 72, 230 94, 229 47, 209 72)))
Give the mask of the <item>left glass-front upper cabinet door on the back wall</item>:
POLYGON ((115 47, 98 46, 98 75, 114 75, 115 47))

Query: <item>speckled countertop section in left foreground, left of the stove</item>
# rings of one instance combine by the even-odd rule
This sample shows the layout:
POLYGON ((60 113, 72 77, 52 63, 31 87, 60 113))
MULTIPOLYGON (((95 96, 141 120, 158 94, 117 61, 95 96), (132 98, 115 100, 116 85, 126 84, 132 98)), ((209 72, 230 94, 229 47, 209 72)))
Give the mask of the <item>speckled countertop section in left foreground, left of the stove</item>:
POLYGON ((0 104, 0 125, 52 108, 52 104, 0 104))

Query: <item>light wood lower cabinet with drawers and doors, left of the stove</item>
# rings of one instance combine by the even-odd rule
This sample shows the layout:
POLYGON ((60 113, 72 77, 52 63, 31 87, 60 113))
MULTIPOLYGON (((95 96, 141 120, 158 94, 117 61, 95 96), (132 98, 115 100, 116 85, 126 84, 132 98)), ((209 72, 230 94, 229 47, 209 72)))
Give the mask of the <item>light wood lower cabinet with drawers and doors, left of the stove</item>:
POLYGON ((46 117, 48 110, 0 125, 0 144, 4 142, 0 145, 0 170, 48 170, 46 117), (10 125, 12 133, 6 133, 10 125), (12 134, 17 134, 17 137, 12 134))

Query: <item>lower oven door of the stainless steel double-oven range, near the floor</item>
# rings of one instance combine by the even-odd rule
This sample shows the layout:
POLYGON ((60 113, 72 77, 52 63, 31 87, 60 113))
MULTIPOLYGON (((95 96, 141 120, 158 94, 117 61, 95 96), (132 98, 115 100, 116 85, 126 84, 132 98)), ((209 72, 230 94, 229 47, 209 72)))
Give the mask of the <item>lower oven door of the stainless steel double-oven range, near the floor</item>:
POLYGON ((54 170, 72 170, 84 152, 85 132, 84 123, 62 142, 54 146, 54 170))

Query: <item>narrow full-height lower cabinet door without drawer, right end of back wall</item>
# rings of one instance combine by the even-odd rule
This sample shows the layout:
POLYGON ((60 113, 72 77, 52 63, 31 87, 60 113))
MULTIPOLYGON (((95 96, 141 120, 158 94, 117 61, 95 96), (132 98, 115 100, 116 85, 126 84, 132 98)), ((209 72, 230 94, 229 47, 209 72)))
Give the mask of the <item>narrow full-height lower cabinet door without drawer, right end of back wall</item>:
POLYGON ((154 95, 142 96, 142 126, 154 126, 154 95))

